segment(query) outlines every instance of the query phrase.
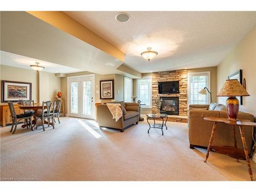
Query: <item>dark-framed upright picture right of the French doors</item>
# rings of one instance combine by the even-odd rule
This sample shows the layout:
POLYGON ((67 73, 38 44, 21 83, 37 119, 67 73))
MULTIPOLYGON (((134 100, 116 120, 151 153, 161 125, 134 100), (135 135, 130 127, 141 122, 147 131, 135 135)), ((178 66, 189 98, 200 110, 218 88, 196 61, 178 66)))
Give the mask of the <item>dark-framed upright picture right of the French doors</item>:
POLYGON ((100 99, 114 99, 114 79, 100 80, 100 99))

